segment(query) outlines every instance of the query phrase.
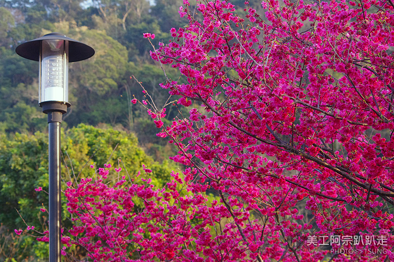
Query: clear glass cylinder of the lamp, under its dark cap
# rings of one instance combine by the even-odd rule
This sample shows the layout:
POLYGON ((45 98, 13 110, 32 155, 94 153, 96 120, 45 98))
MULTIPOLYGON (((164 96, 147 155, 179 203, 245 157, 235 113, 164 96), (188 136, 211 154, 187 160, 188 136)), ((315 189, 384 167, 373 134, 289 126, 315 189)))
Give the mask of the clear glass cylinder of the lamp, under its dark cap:
POLYGON ((68 41, 42 40, 39 62, 39 103, 68 103, 68 41))

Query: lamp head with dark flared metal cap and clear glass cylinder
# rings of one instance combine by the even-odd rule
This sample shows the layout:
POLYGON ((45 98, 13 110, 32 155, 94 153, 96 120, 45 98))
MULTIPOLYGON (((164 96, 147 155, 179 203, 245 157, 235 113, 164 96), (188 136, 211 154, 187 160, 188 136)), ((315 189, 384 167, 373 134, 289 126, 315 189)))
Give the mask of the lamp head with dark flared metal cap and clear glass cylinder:
POLYGON ((60 33, 50 33, 25 42, 15 51, 24 58, 40 63, 40 106, 45 102, 59 102, 68 107, 68 63, 87 59, 94 54, 90 46, 60 33))

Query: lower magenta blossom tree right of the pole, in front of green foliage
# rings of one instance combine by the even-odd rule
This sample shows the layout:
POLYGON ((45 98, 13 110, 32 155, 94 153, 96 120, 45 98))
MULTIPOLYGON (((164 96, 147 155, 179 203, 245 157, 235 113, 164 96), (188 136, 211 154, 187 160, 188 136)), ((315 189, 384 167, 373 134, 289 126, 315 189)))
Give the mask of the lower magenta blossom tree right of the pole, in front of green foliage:
MULTIPOLYGON (((68 183, 65 196, 73 226, 62 237, 64 255, 70 256, 78 245, 93 261, 216 261, 217 257, 239 261, 257 257, 264 241, 256 240, 255 234, 264 228, 257 220, 251 221, 250 213, 235 198, 212 201, 206 195, 207 187, 185 183, 179 173, 173 173, 174 179, 163 188, 138 176, 122 176, 109 183, 111 169, 110 165, 100 168, 94 180, 68 183), (242 235, 237 227, 242 228, 242 235)), ((121 170, 115 168, 115 172, 121 170)), ((47 233, 38 240, 48 241, 47 233)))

